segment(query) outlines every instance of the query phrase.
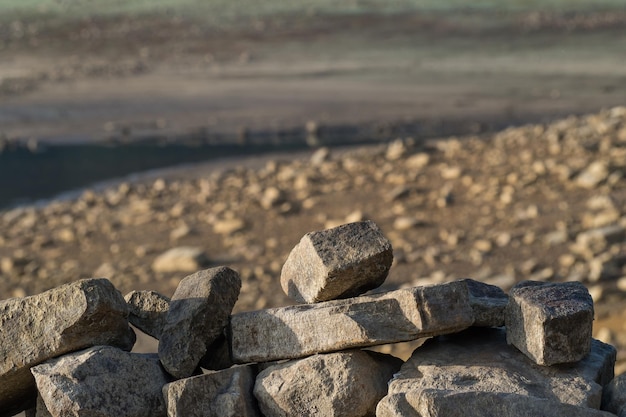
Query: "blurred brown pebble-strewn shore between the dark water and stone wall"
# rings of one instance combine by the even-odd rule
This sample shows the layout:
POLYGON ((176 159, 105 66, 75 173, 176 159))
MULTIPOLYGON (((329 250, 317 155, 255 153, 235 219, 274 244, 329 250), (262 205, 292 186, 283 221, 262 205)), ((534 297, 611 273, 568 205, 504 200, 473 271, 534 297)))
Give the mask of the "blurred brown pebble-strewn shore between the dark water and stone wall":
MULTIPOLYGON (((0 213, 0 298, 79 278, 171 295, 189 268, 228 265, 235 311, 290 304, 278 276, 312 230, 371 219, 391 240, 381 290, 462 277, 505 290, 580 281, 596 303, 595 337, 626 370, 626 109, 496 134, 272 159, 154 181, 123 182, 45 207, 0 213), (160 268, 177 247, 190 264, 160 268), (201 255, 201 256, 200 256, 201 255)), ((178 261, 176 261, 178 262, 178 261)))

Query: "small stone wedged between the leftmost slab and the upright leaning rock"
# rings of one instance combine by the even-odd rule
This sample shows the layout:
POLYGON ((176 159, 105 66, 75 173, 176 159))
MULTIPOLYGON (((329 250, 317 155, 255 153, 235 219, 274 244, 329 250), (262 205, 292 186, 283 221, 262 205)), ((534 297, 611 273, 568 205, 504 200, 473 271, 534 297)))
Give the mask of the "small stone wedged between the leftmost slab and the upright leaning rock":
POLYGON ((156 291, 131 291, 124 299, 130 312, 128 321, 145 334, 160 339, 170 299, 156 291))

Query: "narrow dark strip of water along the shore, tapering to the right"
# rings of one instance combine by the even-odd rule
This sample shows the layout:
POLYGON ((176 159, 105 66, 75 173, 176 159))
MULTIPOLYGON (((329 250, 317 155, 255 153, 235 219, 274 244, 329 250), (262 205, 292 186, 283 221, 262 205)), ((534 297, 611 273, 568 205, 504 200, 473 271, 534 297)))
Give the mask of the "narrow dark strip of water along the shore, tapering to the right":
POLYGON ((499 130, 526 120, 437 121, 365 126, 320 127, 315 130, 208 132, 176 137, 148 136, 108 143, 71 145, 4 144, 0 148, 0 209, 30 204, 105 180, 180 164, 223 158, 301 151, 317 146, 375 144, 397 137, 428 139, 499 130))

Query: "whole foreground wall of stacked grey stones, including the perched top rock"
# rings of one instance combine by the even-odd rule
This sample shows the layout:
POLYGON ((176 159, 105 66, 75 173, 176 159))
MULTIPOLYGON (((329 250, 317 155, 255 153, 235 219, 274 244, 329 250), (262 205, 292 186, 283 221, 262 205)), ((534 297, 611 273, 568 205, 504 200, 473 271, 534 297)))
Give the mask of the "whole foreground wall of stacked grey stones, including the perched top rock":
POLYGON ((579 282, 506 295, 471 279, 380 286, 391 244, 372 221, 305 235, 281 284, 297 304, 233 313, 228 267, 168 299, 106 279, 0 303, 0 416, 612 416, 616 351, 592 339, 579 282), (128 352, 129 323, 160 339, 128 352), (429 338, 402 360, 363 349, 429 338), (604 410, 604 411, 602 411, 604 410))

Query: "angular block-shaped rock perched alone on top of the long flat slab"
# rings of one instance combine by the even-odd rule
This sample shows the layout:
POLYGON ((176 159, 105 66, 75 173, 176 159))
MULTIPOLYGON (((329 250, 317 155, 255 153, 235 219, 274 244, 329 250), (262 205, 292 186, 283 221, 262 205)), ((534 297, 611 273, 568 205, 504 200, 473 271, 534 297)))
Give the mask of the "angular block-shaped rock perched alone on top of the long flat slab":
POLYGON ((392 261, 391 242, 376 223, 344 224, 304 235, 283 265, 280 284, 298 302, 354 297, 380 286, 392 261))

